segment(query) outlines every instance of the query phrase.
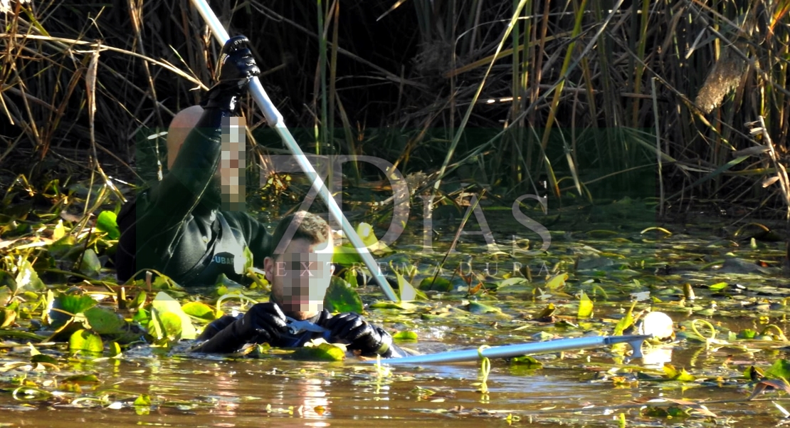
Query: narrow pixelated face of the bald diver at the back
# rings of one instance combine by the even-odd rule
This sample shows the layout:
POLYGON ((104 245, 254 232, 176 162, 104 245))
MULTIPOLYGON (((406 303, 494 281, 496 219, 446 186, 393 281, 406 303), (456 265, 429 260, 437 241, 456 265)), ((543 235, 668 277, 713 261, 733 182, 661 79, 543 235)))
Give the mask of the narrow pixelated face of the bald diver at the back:
POLYGON ((219 169, 223 210, 244 210, 245 128, 243 117, 222 119, 222 153, 219 169))

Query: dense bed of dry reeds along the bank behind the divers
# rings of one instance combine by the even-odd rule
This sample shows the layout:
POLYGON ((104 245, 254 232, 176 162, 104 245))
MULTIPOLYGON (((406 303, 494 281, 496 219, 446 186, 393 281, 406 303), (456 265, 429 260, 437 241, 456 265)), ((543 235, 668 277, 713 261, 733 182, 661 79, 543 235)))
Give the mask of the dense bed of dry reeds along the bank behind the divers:
MULTIPOLYGON (((790 215, 790 0, 212 4, 253 40, 306 152, 383 157, 428 188, 465 176, 592 199, 635 184, 662 213, 790 215)), ((164 149, 140 142, 199 100, 219 51, 190 3, 0 7, 2 169, 158 168, 164 149)), ((244 114, 261 161, 279 143, 244 114)))

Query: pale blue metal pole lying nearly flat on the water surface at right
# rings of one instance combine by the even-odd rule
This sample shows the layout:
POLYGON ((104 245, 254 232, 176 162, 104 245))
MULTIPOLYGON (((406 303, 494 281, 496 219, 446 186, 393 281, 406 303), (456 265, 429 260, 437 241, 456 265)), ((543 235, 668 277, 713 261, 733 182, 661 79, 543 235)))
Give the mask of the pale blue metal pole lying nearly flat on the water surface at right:
MULTIPOLYGON (((537 343, 519 343, 517 345, 505 345, 502 347, 490 347, 483 350, 450 350, 448 352, 438 352, 436 354, 412 355, 403 358, 388 358, 382 360, 386 364, 435 364, 445 362, 472 362, 480 359, 480 356, 487 358, 512 358, 528 354, 546 354, 548 352, 561 352, 563 350, 589 349, 605 347, 615 343, 628 343, 634 348, 632 358, 641 358, 641 344, 645 339, 650 339, 653 335, 627 335, 627 336, 592 336, 580 337, 576 339, 547 340, 537 343)), ((367 360, 365 362, 375 362, 367 360)))

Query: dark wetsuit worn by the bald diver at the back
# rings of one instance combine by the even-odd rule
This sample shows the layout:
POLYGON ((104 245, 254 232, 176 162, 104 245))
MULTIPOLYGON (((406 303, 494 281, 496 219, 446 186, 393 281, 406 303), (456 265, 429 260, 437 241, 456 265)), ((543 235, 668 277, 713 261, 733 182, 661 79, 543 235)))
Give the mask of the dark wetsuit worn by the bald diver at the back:
POLYGON ((227 110, 206 108, 186 137, 164 180, 123 206, 115 265, 125 282, 142 269, 154 269, 182 286, 213 285, 217 275, 245 280, 249 248, 263 267, 271 235, 249 214, 220 211, 216 179, 221 123, 227 110))

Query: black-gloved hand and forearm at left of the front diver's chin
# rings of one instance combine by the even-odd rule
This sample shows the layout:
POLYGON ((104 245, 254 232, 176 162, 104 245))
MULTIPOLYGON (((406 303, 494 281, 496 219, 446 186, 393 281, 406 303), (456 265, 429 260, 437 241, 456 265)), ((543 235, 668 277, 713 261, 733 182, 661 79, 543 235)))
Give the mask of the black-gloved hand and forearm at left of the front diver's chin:
POLYGON ((228 353, 241 349, 246 343, 273 343, 287 332, 285 314, 276 303, 258 303, 243 318, 195 348, 194 352, 228 353))

